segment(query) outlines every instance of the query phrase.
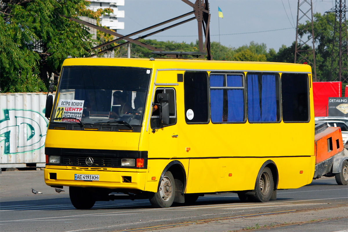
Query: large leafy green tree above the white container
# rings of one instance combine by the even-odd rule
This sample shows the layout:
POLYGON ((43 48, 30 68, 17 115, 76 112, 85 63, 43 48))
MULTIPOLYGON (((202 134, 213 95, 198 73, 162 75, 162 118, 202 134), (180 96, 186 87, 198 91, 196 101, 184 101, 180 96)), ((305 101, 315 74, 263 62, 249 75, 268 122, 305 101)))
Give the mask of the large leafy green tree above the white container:
POLYGON ((84 0, 2 0, 0 17, 1 92, 47 91, 52 74, 68 55, 89 56, 92 35, 70 21, 84 0))

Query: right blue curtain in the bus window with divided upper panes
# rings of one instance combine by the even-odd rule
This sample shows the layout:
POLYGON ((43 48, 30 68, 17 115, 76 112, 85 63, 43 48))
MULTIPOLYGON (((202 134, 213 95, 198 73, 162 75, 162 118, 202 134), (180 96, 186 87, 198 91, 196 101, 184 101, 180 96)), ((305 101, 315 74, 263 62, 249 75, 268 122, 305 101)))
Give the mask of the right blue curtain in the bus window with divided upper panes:
MULTIPOLYGON (((241 75, 227 75, 228 87, 242 87, 243 80, 241 75)), ((244 97, 243 89, 227 90, 228 117, 229 122, 243 122, 244 120, 244 97)))

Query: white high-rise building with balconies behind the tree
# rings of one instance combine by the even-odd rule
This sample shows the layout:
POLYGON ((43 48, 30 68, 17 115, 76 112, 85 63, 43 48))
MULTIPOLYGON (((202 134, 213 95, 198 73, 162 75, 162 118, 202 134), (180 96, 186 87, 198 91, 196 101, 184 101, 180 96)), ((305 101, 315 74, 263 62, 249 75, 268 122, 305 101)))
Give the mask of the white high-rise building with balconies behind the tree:
POLYGON ((118 6, 124 6, 125 0, 89 0, 90 5, 87 7, 87 9, 97 11, 98 9, 102 8, 111 8, 113 9, 113 13, 110 15, 102 15, 101 16, 101 24, 102 26, 107 26, 112 30, 117 29, 125 29, 125 23, 124 22, 118 22, 118 18, 124 18, 125 17, 125 11, 124 10, 118 10, 118 6))

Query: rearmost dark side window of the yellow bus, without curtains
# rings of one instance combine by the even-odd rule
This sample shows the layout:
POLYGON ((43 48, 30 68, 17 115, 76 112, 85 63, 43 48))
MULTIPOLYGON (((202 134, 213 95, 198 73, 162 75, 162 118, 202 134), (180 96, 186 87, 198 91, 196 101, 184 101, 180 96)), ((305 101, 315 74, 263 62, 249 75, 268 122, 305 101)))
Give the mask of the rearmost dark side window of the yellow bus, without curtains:
POLYGON ((309 121, 307 74, 282 74, 282 111, 284 122, 309 121))

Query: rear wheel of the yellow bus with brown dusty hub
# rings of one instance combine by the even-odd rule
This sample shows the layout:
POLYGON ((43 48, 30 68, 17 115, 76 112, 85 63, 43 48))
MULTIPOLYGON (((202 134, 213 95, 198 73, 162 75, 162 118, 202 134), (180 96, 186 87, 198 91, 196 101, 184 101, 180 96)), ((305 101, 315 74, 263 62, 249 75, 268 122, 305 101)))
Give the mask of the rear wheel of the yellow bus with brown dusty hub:
POLYGON ((267 202, 271 199, 274 190, 272 171, 268 167, 263 168, 260 176, 255 183, 255 196, 252 200, 255 202, 267 202))

